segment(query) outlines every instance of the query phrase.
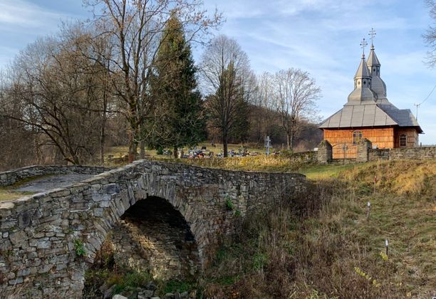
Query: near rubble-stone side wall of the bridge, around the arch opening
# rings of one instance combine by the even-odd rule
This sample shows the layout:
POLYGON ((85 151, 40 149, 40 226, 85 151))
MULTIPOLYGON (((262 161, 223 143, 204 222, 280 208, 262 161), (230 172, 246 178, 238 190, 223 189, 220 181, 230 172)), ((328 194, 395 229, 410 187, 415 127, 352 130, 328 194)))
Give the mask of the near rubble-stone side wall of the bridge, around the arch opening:
POLYGON ((0 297, 81 298, 84 272, 107 234, 130 206, 155 197, 184 217, 204 266, 240 217, 290 198, 304 182, 301 174, 137 161, 71 187, 0 202, 0 297))

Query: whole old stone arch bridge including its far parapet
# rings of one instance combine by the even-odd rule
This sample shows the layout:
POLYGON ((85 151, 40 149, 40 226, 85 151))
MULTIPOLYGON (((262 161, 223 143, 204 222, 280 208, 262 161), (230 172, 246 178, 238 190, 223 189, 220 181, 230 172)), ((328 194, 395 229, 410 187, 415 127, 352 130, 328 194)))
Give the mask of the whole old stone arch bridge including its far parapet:
MULTIPOLYGON (((0 173, 0 185, 35 174, 104 170, 26 167, 0 173)), ((302 174, 141 160, 68 187, 0 201, 0 297, 81 298, 84 273, 107 238, 128 266, 142 267, 152 253, 148 267, 157 264, 148 270, 156 276, 194 275, 244 216, 291 199, 304 186, 302 174)))

